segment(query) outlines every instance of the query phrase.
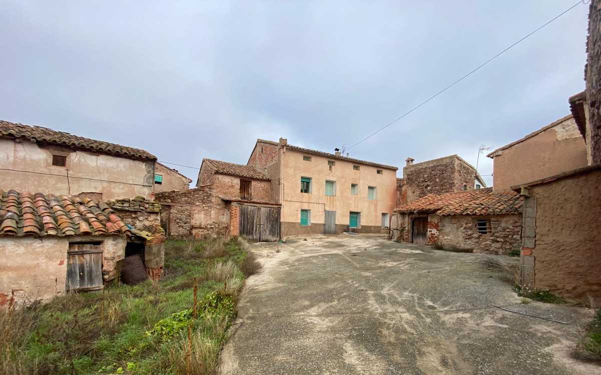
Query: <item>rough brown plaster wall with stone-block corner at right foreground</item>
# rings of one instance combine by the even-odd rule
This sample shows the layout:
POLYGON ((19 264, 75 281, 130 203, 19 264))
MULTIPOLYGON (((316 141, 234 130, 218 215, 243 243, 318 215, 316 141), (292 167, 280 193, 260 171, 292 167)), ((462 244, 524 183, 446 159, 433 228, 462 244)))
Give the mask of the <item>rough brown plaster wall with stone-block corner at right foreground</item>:
POLYGON ((594 170, 531 188, 537 289, 583 300, 590 295, 601 302, 599 186, 601 170, 594 170))

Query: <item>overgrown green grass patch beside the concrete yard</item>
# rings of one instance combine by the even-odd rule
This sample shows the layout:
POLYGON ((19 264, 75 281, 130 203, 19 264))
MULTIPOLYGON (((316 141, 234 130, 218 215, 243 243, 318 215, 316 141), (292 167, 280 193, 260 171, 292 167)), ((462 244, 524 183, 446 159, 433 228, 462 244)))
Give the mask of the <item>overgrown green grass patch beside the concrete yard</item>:
POLYGON ((0 373, 213 373, 236 316, 247 249, 236 239, 169 240, 160 282, 0 312, 0 373))

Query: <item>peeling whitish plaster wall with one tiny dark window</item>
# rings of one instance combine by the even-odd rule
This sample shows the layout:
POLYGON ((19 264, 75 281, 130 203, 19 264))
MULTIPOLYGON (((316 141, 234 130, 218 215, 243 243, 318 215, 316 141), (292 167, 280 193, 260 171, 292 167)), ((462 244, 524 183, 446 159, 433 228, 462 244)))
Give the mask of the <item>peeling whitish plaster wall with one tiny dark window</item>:
POLYGON ((20 139, 0 139, 0 169, 10 169, 0 170, 0 188, 3 190, 67 196, 92 192, 102 193, 102 199, 135 196, 148 199, 154 179, 153 160, 40 147, 20 139), (67 157, 66 167, 52 165, 53 153, 67 157))

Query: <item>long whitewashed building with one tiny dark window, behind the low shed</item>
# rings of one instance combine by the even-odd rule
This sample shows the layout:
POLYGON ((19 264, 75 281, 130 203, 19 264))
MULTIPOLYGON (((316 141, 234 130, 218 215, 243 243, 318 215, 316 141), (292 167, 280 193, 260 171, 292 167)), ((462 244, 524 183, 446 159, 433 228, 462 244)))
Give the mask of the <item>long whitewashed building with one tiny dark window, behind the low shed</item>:
POLYGON ((142 149, 0 121, 0 188, 93 197, 151 197, 156 157, 142 149))

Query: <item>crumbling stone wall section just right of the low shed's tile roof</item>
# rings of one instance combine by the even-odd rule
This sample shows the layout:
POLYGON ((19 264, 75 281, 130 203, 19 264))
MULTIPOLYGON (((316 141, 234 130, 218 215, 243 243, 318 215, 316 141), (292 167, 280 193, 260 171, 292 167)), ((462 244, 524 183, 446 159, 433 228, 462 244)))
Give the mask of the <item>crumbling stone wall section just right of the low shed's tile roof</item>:
POLYGON ((106 204, 117 212, 124 223, 135 229, 150 233, 163 233, 160 226, 159 203, 135 197, 134 199, 109 200, 106 204))

